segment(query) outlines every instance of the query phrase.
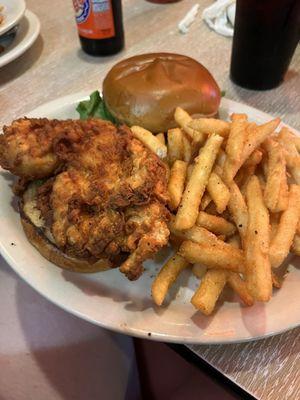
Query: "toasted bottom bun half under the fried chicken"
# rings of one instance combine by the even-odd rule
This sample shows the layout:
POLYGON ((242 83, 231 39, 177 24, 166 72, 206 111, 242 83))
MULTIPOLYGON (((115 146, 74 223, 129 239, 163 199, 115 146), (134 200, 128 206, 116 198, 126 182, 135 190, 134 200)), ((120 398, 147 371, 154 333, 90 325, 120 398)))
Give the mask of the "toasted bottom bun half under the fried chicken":
POLYGON ((63 253, 53 243, 51 234, 47 232, 44 222, 40 219, 39 210, 35 207, 35 194, 38 185, 31 183, 19 201, 21 223, 29 242, 39 253, 53 264, 63 269, 75 272, 99 272, 113 268, 107 259, 100 259, 94 263, 87 260, 71 257, 63 253))

